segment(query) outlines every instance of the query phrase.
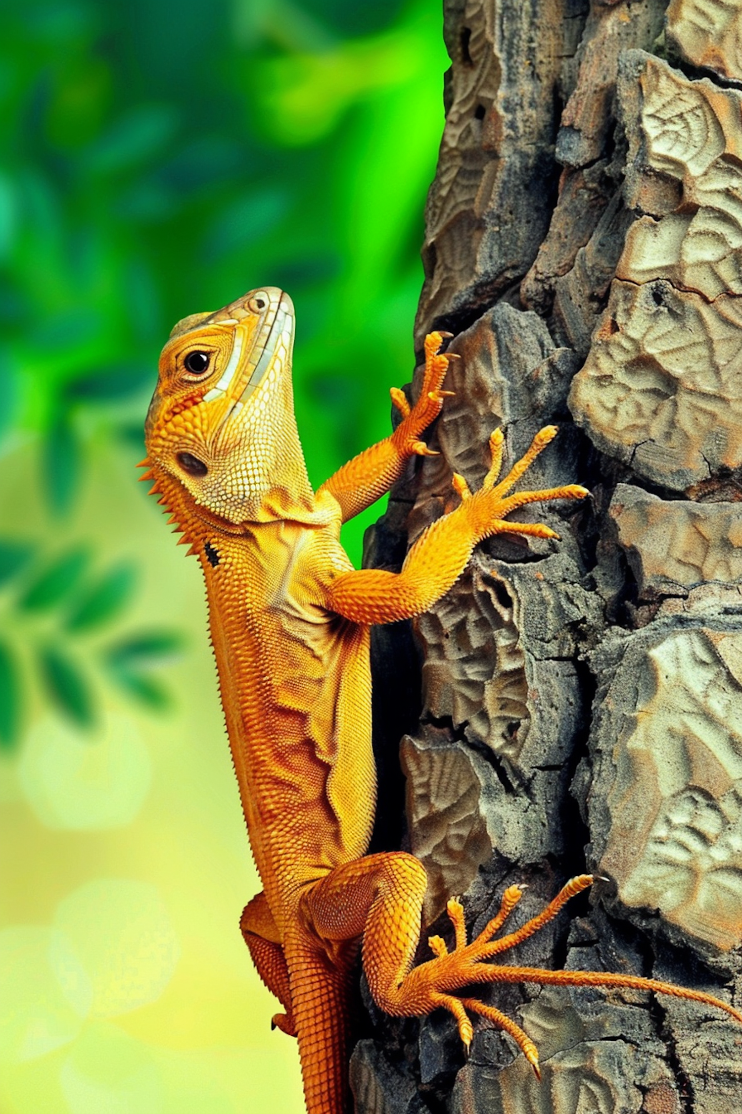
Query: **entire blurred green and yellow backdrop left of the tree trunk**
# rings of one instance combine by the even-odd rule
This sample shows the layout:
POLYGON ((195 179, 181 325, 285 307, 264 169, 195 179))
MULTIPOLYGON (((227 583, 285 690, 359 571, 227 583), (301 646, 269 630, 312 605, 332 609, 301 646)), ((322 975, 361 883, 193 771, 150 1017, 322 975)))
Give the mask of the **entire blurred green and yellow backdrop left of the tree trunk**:
MULTIPOLYGON (((8 0, 0 41, 0 1111, 300 1112, 200 573, 135 465, 171 325, 297 307, 310 478, 409 380, 437 0, 8 0)), ((372 509, 345 536, 359 561, 372 509)))

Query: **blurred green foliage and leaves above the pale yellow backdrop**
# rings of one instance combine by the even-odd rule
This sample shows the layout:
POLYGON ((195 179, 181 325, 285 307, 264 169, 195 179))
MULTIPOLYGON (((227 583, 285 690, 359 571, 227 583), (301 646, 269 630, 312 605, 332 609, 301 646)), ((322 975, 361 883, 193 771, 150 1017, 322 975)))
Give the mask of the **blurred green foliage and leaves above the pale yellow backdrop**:
MULTIPOLYGON (((174 636, 100 643, 136 569, 96 568, 92 528, 87 547, 56 537, 101 428, 131 466, 142 455, 176 320, 284 286, 313 481, 386 433, 387 389, 413 364, 439 22, 434 0, 3 6, 0 451, 34 441, 49 508, 39 553, 2 527, 0 579, 18 577, 0 644, 6 743, 20 723, 19 639, 80 726, 95 721, 93 659, 130 696, 166 702, 151 667, 174 636)), ((356 561, 378 514, 344 536, 356 561)))

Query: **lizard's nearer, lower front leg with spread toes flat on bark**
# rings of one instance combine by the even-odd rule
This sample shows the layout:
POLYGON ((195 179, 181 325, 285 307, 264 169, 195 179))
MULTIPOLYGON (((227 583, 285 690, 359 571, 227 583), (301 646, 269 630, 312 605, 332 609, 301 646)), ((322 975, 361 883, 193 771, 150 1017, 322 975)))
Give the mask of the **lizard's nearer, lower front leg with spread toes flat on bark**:
POLYGON ((536 433, 525 456, 497 483, 503 433, 495 430, 489 438, 492 466, 482 489, 472 495, 463 477, 454 473, 453 483, 462 496, 461 506, 437 519, 421 535, 407 554, 402 571, 363 569, 343 573, 328 588, 327 607, 356 623, 394 623, 412 618, 432 607, 451 588, 464 571, 478 541, 493 534, 506 532, 555 538, 556 534, 548 526, 505 521, 506 515, 528 502, 583 499, 587 495, 585 488, 570 483, 508 496, 507 492, 555 436, 555 426, 546 426, 536 433))

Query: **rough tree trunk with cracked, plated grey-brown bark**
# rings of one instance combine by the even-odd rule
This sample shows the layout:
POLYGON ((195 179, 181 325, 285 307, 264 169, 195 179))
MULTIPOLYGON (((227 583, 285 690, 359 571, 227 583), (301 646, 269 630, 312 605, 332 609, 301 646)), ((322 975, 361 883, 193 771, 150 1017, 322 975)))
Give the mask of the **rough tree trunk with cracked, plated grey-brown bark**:
MULTIPOLYGON (((593 497, 524 511, 561 541, 481 546, 415 624, 419 721, 408 635, 375 635, 382 751, 409 732, 405 846, 428 871, 427 922, 463 893, 476 932, 516 881, 530 887, 524 919, 591 870, 609 880, 518 962, 730 999, 742 971, 742 6, 447 0, 445 36, 416 349, 448 329, 462 359, 431 439, 441 456, 393 494, 368 561, 398 567, 456 501, 452 471, 479 486, 496 426, 512 462, 555 421, 527 486, 583 482, 593 497)), ((384 828, 396 789, 382 778, 377 846, 400 836, 384 828)), ((436 930, 449 938, 445 917, 436 930)), ((538 1045, 541 1084, 482 1023, 465 1062, 447 1015, 393 1020, 367 998, 358 1111, 742 1110, 742 1033, 712 1009, 555 988, 487 1000, 538 1045)))

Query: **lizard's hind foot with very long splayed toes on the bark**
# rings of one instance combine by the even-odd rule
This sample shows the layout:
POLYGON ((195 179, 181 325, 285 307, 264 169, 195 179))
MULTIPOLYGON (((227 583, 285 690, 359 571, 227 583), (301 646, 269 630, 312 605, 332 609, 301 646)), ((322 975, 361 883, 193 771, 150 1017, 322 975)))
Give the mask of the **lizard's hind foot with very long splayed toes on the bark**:
MULTIPOLYGON (((421 981, 423 978, 425 979, 429 996, 428 1008, 443 1007, 453 1014, 458 1026, 458 1034, 467 1052, 474 1034, 474 1027, 468 1015, 476 1014, 487 1018, 498 1028, 508 1033, 533 1067, 536 1076, 541 1078, 536 1046, 515 1022, 507 1017, 506 1014, 503 1014, 494 1006, 486 1005, 478 998, 459 997, 451 993, 445 993, 475 983, 534 983, 542 986, 595 986, 651 990, 714 1006, 718 1009, 724 1010, 742 1024, 742 1012, 730 1006, 729 1003, 723 1001, 721 998, 716 998, 702 990, 691 990, 685 987, 674 986, 671 983, 663 983, 660 979, 642 978, 634 975, 619 975, 610 971, 548 970, 537 967, 483 964, 483 960, 493 959, 498 954, 507 951, 523 940, 528 939, 528 937, 543 928, 544 925, 553 920, 570 898, 587 889, 594 880, 594 876, 592 874, 577 874, 575 878, 570 879, 542 912, 536 917, 532 917, 521 928, 508 932, 506 936, 502 936, 497 940, 494 940, 493 937, 502 928, 506 918, 521 900, 524 887, 509 886, 505 890, 497 915, 493 917, 471 944, 466 942, 464 910, 461 902, 456 898, 448 901, 448 918, 454 927, 454 950, 449 952, 445 941, 439 936, 429 937, 428 945, 435 955, 435 959, 414 968, 407 978, 412 983, 417 981, 417 979, 421 981), (425 973, 426 968, 426 976, 421 977, 417 973, 425 973)), ((419 995, 419 990, 422 990, 422 987, 417 989, 415 997, 419 995)))

